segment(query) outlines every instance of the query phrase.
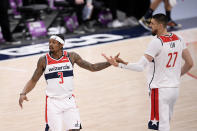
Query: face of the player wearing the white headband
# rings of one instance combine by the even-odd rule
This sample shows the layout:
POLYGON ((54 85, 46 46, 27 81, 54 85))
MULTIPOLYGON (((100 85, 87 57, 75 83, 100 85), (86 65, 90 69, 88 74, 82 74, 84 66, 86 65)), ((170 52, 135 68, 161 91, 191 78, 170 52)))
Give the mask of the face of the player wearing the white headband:
POLYGON ((51 53, 58 52, 62 49, 62 44, 54 39, 49 40, 49 50, 51 53))

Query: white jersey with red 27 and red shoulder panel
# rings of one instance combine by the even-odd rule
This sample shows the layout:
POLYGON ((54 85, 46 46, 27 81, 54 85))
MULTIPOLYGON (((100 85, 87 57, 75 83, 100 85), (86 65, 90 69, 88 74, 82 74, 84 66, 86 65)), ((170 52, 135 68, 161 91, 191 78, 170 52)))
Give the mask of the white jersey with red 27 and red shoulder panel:
POLYGON ((149 65, 149 88, 179 87, 185 48, 185 43, 173 33, 152 41, 145 53, 154 58, 149 65))

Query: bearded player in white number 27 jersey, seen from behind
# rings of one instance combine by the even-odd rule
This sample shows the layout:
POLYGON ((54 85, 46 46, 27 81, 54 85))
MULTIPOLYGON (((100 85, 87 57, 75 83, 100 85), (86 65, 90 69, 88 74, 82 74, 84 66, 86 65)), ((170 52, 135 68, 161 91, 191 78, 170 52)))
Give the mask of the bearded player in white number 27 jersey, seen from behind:
POLYGON ((103 56, 112 65, 133 71, 148 70, 148 87, 151 98, 151 115, 148 128, 170 131, 170 119, 179 94, 180 77, 193 66, 191 55, 184 41, 167 32, 167 18, 156 14, 151 19, 152 34, 157 37, 150 42, 144 56, 137 63, 128 63, 119 57, 103 56), (182 66, 182 58, 185 61, 182 66))

